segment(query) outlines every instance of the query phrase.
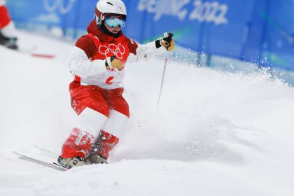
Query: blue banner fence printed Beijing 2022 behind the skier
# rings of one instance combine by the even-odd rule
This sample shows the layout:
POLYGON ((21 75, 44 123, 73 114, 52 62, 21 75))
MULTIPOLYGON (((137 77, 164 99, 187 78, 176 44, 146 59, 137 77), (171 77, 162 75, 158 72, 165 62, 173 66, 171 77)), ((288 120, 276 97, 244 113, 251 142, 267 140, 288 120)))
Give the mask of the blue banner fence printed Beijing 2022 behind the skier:
MULTIPOLYGON (((8 0, 15 22, 85 29, 96 0, 8 0)), ((144 42, 165 31, 186 48, 294 71, 293 0, 125 0, 124 32, 144 42)), ((76 36, 78 34, 75 34, 76 36)))

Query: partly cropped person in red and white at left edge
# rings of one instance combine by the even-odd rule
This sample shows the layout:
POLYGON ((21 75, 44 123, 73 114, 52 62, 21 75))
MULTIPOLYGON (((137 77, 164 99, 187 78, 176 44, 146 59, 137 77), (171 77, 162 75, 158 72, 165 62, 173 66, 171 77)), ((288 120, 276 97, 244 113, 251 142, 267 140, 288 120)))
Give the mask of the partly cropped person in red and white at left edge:
POLYGON ((0 45, 17 50, 17 40, 15 25, 8 13, 6 2, 5 0, 0 0, 0 45))

